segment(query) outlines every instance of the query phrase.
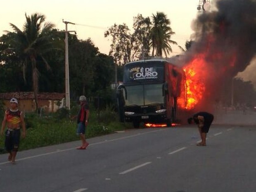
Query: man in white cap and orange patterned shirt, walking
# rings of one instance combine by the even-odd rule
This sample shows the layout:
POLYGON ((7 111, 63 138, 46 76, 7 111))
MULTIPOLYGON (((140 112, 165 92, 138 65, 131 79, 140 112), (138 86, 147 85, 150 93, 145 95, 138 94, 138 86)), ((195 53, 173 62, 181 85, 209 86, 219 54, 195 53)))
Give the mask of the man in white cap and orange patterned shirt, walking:
POLYGON ((3 135, 7 122, 7 130, 5 131, 5 149, 9 153, 8 161, 16 164, 15 158, 19 149, 20 128, 22 128, 22 137, 26 136, 26 126, 24 114, 18 110, 18 100, 12 98, 10 100, 10 109, 5 111, 2 121, 1 135, 3 135))

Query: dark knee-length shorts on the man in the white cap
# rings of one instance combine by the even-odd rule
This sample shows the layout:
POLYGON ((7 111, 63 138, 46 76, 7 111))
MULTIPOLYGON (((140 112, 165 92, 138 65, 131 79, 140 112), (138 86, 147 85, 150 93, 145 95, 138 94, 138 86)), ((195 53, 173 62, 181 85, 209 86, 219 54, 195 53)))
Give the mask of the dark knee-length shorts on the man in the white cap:
POLYGON ((20 129, 5 131, 5 149, 7 152, 18 151, 20 140, 20 129))

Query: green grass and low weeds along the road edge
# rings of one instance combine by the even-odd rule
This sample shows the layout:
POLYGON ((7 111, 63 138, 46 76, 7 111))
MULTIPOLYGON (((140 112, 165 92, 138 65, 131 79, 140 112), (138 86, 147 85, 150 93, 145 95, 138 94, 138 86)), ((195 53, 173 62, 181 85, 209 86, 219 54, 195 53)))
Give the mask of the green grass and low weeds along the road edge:
MULTIPOLYGON (((103 111, 91 110, 88 127, 86 128, 86 138, 96 137, 114 133, 118 130, 131 128, 130 124, 120 123, 118 114, 112 109, 103 111)), ((21 138, 19 151, 56 145, 60 143, 80 140, 76 135, 76 120, 70 120, 63 111, 59 111, 52 116, 38 117, 36 114, 26 114, 26 138, 21 138)), ((0 138, 0 151, 4 150, 5 137, 0 138)))

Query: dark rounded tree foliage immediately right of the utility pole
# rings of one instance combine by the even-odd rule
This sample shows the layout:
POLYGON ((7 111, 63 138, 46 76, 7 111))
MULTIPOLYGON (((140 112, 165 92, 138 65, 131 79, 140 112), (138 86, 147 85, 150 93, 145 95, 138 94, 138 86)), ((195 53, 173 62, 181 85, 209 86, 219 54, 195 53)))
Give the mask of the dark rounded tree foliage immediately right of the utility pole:
POLYGON ((99 52, 92 40, 69 42, 69 77, 71 98, 80 95, 97 96, 98 90, 107 90, 114 81, 114 59, 99 52))

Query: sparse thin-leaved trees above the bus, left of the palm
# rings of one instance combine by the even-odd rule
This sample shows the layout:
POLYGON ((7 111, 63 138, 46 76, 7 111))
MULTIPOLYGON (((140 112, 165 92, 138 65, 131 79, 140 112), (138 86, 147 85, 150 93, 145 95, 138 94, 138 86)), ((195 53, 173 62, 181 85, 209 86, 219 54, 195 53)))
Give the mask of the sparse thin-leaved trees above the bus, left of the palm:
POLYGON ((104 33, 105 37, 112 37, 109 55, 117 64, 134 61, 143 54, 149 56, 149 17, 144 18, 141 14, 134 17, 133 30, 131 33, 126 24, 114 24, 104 33))

